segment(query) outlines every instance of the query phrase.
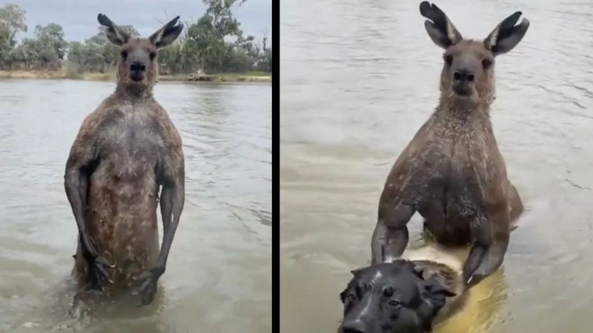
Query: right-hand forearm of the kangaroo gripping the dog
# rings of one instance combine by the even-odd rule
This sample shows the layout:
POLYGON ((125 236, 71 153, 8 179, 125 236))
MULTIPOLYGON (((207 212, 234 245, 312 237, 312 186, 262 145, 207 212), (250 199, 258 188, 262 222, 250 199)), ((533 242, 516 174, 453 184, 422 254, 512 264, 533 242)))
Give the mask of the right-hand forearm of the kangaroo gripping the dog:
POLYGON ((492 219, 476 216, 471 221, 474 242, 463 268, 466 283, 475 285, 502 265, 510 232, 508 213, 503 212, 506 209, 505 205, 492 219), (507 221, 503 221, 505 218, 507 221))

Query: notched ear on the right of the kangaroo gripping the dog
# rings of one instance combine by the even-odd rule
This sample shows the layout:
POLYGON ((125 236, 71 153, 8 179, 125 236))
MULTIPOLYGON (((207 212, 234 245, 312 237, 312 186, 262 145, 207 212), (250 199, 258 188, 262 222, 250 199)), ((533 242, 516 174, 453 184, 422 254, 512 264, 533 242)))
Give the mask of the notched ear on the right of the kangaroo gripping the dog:
POLYGON ((484 40, 484 46, 492 52, 492 54, 499 55, 513 50, 529 28, 529 21, 523 18, 520 24, 515 25, 521 17, 521 12, 515 12, 506 19, 502 20, 499 25, 492 30, 484 40))

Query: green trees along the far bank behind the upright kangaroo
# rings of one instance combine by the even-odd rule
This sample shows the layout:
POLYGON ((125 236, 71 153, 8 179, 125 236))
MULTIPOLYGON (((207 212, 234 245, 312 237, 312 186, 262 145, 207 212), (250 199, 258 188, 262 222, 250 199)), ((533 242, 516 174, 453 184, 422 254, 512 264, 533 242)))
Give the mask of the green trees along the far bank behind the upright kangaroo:
MULTIPOLYGON (((173 45, 159 51, 163 74, 271 72, 272 50, 266 36, 243 36, 241 24, 231 9, 245 0, 202 0, 204 13, 196 22, 184 22, 185 29, 173 45)), ((0 8, 0 69, 57 70, 76 68, 78 72, 113 71, 119 52, 107 40, 103 27, 84 42, 67 42, 64 29, 56 23, 38 25, 34 38, 15 39, 27 32, 26 11, 8 3, 0 8)), ((131 36, 139 36, 131 26, 122 26, 131 36)))

